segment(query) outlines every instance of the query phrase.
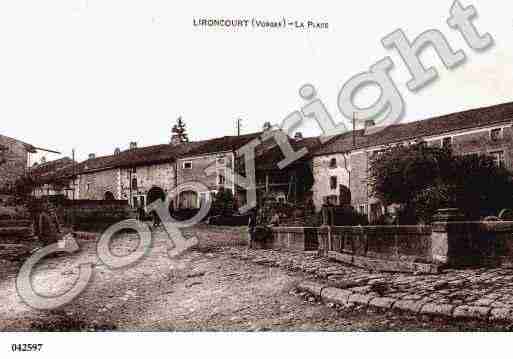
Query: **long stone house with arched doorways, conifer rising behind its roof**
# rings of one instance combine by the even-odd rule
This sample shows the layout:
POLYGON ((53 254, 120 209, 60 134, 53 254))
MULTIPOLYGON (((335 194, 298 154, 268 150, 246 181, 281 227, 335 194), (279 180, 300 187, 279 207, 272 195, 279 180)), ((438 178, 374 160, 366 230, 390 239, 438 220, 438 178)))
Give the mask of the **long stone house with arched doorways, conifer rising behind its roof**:
POLYGON ((235 181, 229 176, 233 172, 227 168, 233 170, 235 151, 258 135, 140 148, 132 142, 128 150, 116 150, 113 155, 90 154, 76 165, 75 198, 127 200, 133 207, 145 208, 156 199, 164 199, 177 186, 197 181, 208 188, 208 193, 184 191, 172 200, 172 206, 198 208, 207 194, 220 187, 235 192, 235 181), (207 170, 211 168, 214 170, 207 170))

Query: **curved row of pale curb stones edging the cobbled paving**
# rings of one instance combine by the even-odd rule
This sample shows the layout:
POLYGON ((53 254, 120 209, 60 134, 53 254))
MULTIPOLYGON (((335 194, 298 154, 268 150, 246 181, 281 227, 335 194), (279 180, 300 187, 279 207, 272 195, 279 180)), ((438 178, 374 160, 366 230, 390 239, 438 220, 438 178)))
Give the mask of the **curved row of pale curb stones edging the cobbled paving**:
POLYGON ((415 314, 513 322, 513 308, 491 308, 469 305, 455 306, 451 304, 437 304, 429 302, 426 299, 397 300, 389 297, 354 293, 348 289, 335 288, 312 281, 301 282, 297 285, 297 288, 319 297, 323 301, 341 305, 356 303, 388 310, 399 309, 415 314))

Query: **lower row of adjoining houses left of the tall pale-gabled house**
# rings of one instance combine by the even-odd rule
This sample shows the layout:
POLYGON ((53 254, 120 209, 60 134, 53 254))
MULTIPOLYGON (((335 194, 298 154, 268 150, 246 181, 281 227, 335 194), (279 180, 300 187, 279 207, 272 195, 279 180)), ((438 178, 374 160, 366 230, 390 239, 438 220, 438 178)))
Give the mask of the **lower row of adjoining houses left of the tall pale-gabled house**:
MULTIPOLYGON (((263 132, 224 136, 205 141, 170 143, 138 147, 131 142, 125 151, 89 158, 76 163, 70 158, 35 166, 31 174, 37 181, 36 196, 65 195, 69 199, 127 200, 133 207, 146 207, 165 198, 181 185, 200 182, 204 191, 184 191, 173 198, 175 208, 197 208, 209 194, 229 189, 239 204, 246 201, 246 191, 237 186, 235 173, 241 173, 243 158, 236 151, 261 139, 263 132)), ((260 141, 260 140, 259 140, 260 141)), ((296 138, 293 148, 316 149, 316 138, 296 138)), ((256 148, 256 185, 260 195, 272 194, 278 200, 304 199, 303 172, 308 174, 308 160, 303 158, 281 171, 277 163, 281 151, 272 139, 256 148)), ((261 196, 260 196, 261 197, 261 196)))

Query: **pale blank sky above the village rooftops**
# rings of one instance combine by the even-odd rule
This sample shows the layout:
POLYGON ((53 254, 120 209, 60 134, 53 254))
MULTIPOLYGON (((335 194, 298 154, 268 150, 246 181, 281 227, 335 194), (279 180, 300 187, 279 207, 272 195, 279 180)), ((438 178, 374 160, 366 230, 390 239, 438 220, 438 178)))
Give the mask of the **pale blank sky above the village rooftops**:
MULTIPOLYGON (((130 141, 167 143, 185 120, 193 140, 280 123, 312 83, 340 119, 337 95, 352 76, 391 56, 407 108, 404 121, 513 99, 513 12, 507 2, 474 5, 495 46, 472 51, 446 20, 452 1, 6 0, 0 2, 0 133, 78 159, 111 154, 130 141), (193 18, 288 18, 329 22, 329 30, 205 29, 193 18), (439 80, 418 93, 381 38, 442 31, 467 62, 447 71, 428 49, 439 80)), ((357 98, 370 104, 378 92, 357 98)), ((315 134, 315 126, 304 129, 315 134)), ((55 159, 55 156, 47 156, 55 159)))

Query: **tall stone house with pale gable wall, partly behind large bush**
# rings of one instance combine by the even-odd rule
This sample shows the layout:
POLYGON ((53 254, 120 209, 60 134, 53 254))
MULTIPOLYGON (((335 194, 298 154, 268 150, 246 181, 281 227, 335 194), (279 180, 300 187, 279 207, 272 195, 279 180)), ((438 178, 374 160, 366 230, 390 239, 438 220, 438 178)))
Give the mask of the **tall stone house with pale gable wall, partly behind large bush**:
POLYGON ((429 146, 450 146, 459 155, 488 154, 513 170, 512 125, 513 103, 505 103, 341 134, 314 153, 314 204, 317 209, 328 202, 340 204, 340 192, 348 188, 353 207, 371 219, 379 216, 383 206, 372 198, 368 184, 370 159, 398 143, 425 141, 429 146))

